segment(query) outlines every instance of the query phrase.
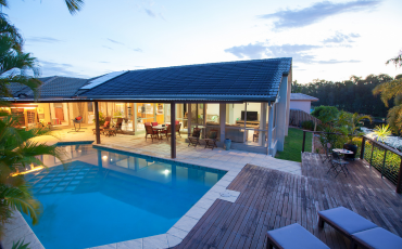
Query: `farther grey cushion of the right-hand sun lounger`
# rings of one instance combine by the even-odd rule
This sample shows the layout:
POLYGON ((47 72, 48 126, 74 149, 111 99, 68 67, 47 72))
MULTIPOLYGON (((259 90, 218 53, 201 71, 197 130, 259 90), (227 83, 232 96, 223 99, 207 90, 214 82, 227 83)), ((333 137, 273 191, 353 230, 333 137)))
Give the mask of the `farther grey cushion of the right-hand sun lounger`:
POLYGON ((318 215, 323 217, 324 220, 328 220, 330 225, 336 226, 347 235, 377 227, 373 222, 344 207, 319 211, 318 215))

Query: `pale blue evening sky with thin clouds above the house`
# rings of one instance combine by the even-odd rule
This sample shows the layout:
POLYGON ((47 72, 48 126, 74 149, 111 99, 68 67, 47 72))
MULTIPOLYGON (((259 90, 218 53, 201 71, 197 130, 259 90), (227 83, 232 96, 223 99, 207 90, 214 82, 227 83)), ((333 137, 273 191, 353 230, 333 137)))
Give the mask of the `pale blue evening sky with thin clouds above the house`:
POLYGON ((402 74, 400 0, 13 0, 3 9, 42 76, 293 57, 293 80, 402 74), (110 4, 112 2, 113 4, 110 4))

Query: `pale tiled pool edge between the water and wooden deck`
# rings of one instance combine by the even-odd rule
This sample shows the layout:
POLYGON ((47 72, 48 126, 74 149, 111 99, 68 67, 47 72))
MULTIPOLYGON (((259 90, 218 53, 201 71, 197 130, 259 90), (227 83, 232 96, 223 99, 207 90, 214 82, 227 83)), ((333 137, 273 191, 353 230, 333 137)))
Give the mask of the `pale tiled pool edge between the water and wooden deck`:
MULTIPOLYGON (((125 154, 133 154, 133 155, 140 155, 146 157, 153 157, 161 159, 163 161, 168 162, 180 162, 177 159, 167 159, 158 156, 148 156, 138 154, 135 152, 126 150, 125 147, 115 148, 115 146, 111 147, 108 145, 92 145, 95 148, 105 148, 108 150, 125 153, 125 154)), ((188 162, 183 162, 185 165, 192 165, 188 162)), ((246 165, 244 165, 246 166, 246 165)), ((244 167, 243 166, 243 167, 244 167)), ((192 227, 198 223, 198 221, 205 214, 208 209, 215 202, 216 199, 223 199, 230 202, 235 202, 236 199, 239 197, 240 192, 229 191, 226 187, 235 180, 235 178, 239 174, 241 169, 234 168, 234 169, 223 169, 223 167, 214 167, 214 166, 200 166, 203 168, 216 169, 227 171, 227 173, 213 186, 210 191, 206 192, 205 195, 197 201, 194 206, 187 211, 187 213, 181 217, 165 234, 154 235, 145 238, 137 238, 133 240, 103 245, 99 247, 92 247, 90 249, 155 249, 155 248, 172 248, 179 245, 183 239, 188 235, 188 233, 192 230, 192 227)))

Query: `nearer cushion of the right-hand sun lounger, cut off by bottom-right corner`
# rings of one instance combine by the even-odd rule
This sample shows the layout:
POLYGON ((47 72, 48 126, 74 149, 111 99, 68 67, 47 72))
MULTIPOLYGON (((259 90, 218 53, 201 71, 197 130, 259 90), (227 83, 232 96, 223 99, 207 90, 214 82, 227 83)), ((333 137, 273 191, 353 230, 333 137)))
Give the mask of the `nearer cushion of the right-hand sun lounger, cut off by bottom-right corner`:
POLYGON ((402 248, 402 238, 381 227, 355 233, 352 235, 352 238, 367 248, 402 248))

